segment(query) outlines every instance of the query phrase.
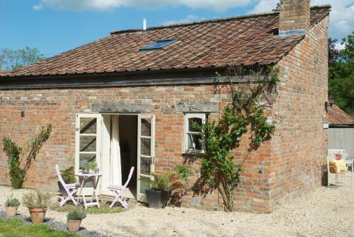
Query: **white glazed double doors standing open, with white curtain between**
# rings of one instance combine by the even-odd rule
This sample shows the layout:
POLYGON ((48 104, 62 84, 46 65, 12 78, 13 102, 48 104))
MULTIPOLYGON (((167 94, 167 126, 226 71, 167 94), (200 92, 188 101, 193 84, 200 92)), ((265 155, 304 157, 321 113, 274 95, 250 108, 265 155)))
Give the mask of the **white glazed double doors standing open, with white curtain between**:
MULTIPOLYGON (((96 161, 102 177, 98 183, 98 192, 112 195, 108 185, 124 185, 127 177, 122 177, 118 116, 105 114, 77 114, 75 140, 75 171, 96 161)), ((145 201, 145 190, 154 173, 154 115, 137 116, 137 167, 135 167, 136 190, 127 189, 125 196, 145 201), (132 193, 135 192, 135 193, 132 193)), ((132 181, 131 181, 132 182, 132 181)), ((129 187, 129 185, 128 185, 129 187)), ((84 187, 85 195, 91 195, 93 183, 84 187)))

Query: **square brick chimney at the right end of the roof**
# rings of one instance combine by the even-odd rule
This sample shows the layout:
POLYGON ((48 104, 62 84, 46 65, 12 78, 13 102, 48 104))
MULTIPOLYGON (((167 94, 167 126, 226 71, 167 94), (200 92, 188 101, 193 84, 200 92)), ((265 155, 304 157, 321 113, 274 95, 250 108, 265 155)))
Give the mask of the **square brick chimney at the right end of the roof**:
POLYGON ((280 0, 279 35, 304 34, 310 27, 310 0, 280 0))

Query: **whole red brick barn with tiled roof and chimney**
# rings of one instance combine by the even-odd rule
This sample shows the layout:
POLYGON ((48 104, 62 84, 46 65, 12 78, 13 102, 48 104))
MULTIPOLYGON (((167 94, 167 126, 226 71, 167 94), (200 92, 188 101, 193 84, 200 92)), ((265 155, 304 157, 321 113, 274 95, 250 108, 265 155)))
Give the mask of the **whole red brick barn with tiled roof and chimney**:
MULTIPOLYGON (((224 75, 229 65, 283 71, 270 111, 275 134, 246 162, 236 209, 272 212, 321 185, 330 6, 280 2, 271 13, 113 32, 0 76, 1 138, 24 145, 40 126, 53 127, 24 186, 57 190, 56 164, 79 170, 87 161, 103 171, 103 195, 131 166, 137 172, 126 197, 143 200, 151 173, 176 164, 193 170, 193 185, 202 148, 188 122, 217 117, 229 101, 214 91, 215 71, 224 75)), ((0 183, 9 184, 2 144, 0 183)), ((188 191, 182 205, 223 209, 216 191, 188 191)))

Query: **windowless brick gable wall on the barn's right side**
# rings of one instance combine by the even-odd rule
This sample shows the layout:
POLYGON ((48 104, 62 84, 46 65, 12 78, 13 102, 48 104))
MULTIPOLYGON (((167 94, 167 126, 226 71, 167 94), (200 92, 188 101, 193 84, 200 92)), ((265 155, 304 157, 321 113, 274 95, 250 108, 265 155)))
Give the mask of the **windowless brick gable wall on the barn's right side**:
POLYGON ((271 206, 289 202, 321 185, 328 129, 328 18, 315 25, 279 66, 283 75, 273 107, 271 206))

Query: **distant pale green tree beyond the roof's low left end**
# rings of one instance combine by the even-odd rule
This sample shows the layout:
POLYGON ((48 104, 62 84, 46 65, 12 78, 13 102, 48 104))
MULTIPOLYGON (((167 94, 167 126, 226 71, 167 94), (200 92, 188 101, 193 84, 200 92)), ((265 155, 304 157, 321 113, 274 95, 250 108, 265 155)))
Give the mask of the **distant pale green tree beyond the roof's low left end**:
POLYGON ((44 58, 44 55, 36 47, 25 47, 20 50, 2 48, 0 50, 0 69, 13 71, 20 67, 34 64, 44 58))

